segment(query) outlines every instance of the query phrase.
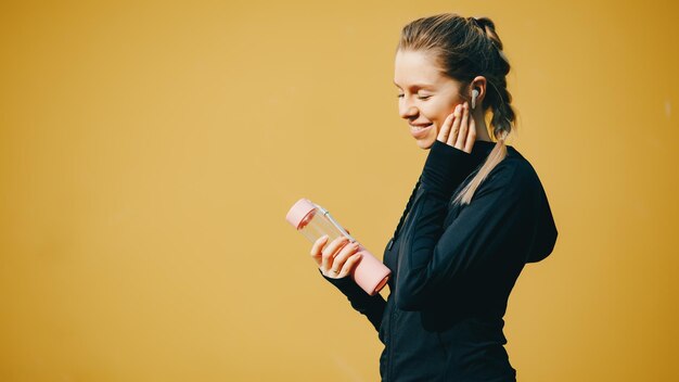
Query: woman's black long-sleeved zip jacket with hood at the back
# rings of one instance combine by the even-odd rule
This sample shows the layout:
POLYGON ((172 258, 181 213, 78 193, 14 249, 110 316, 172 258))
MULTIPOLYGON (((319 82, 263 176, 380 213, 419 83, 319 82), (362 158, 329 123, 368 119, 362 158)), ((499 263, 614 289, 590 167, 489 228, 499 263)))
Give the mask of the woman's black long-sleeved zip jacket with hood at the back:
POLYGON ((494 145, 475 141, 466 153, 435 141, 384 251, 386 301, 350 277, 325 277, 379 331, 382 381, 515 381, 503 346, 507 302, 524 265, 552 252, 558 231, 537 174, 511 145, 470 204, 451 205, 494 145))

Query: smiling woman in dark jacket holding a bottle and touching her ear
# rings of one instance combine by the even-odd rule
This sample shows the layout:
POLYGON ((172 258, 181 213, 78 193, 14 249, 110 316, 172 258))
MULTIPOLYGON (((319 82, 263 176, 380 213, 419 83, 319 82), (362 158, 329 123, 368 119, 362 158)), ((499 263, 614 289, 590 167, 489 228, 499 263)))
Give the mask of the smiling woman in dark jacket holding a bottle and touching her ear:
POLYGON ((504 144, 515 119, 509 71, 489 18, 406 25, 399 114, 430 152, 384 252, 388 298, 348 276, 360 260, 355 245, 321 238, 311 247, 323 277, 379 331, 383 381, 515 381, 502 317, 524 265, 547 257, 558 232, 534 168, 504 144))

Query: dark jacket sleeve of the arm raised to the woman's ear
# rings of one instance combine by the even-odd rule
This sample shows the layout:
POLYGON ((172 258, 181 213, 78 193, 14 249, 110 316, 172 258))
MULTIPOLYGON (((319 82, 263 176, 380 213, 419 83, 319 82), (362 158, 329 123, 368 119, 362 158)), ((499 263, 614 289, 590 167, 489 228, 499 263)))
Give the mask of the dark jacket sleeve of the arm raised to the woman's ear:
POLYGON ((439 289, 454 285, 496 260, 492 256, 528 214, 525 202, 528 198, 522 196, 525 184, 517 167, 499 169, 500 163, 478 187, 472 202, 444 227, 447 204, 460 181, 453 178, 451 186, 440 175, 454 174, 453 167, 459 165, 456 161, 430 161, 430 157, 425 163, 413 202, 412 226, 403 232, 396 278, 396 305, 402 310, 424 308, 435 301, 439 289))

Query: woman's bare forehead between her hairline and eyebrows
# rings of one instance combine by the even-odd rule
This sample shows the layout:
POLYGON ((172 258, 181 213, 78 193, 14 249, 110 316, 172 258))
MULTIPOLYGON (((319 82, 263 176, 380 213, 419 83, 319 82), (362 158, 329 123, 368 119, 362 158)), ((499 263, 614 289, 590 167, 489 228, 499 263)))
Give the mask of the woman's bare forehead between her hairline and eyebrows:
POLYGON ((403 87, 436 87, 450 82, 433 55, 419 51, 398 51, 394 62, 394 84, 403 87))

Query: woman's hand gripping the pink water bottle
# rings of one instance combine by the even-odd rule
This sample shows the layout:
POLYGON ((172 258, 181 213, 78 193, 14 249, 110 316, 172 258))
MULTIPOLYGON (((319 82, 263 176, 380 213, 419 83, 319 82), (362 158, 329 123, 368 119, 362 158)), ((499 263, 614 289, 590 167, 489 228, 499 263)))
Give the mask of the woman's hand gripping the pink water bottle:
POLYGON ((349 275, 361 259, 358 242, 349 243, 347 237, 338 237, 324 247, 326 242, 326 234, 319 238, 311 246, 311 257, 323 276, 342 279, 349 275))

